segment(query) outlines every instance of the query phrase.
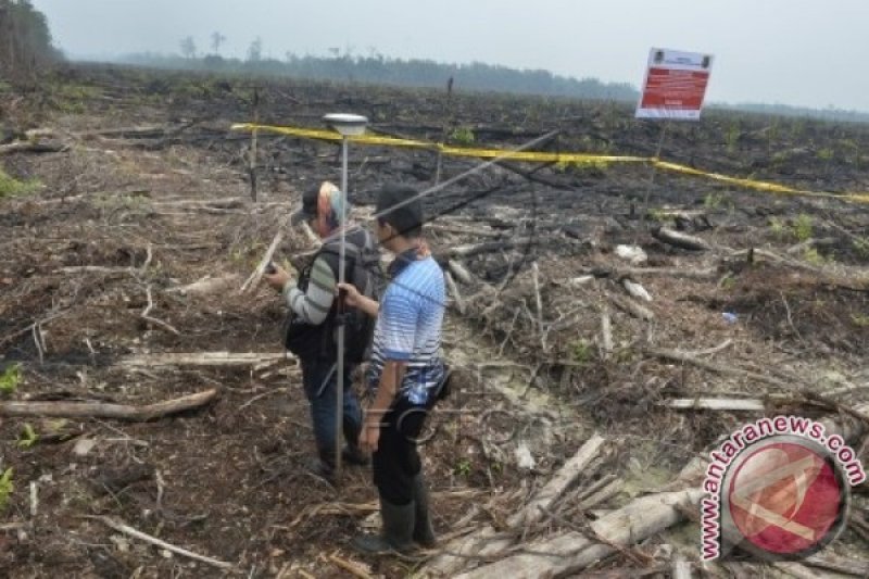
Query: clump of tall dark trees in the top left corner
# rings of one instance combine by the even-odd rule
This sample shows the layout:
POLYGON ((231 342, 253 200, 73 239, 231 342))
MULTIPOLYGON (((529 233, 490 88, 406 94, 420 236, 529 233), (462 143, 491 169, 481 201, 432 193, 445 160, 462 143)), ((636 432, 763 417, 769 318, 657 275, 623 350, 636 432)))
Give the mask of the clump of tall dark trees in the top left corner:
POLYGON ((0 72, 4 76, 29 75, 59 56, 46 16, 29 0, 0 0, 0 72))

